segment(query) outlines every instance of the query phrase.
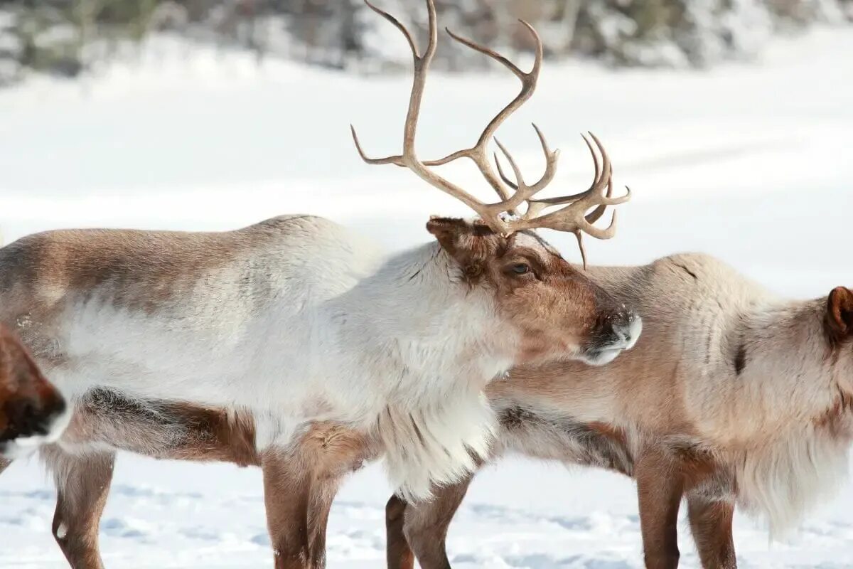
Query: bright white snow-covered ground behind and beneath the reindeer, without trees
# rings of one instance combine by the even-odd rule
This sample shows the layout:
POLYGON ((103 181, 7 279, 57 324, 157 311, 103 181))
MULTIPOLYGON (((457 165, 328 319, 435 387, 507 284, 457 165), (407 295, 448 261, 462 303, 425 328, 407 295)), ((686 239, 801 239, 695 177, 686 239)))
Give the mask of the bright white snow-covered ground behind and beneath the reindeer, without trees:
MULTIPOLYGON (((399 48, 406 49, 402 41, 399 48)), ((612 73, 546 66, 537 95, 502 129, 525 171, 542 168, 543 127, 562 149, 554 191, 585 187, 592 130, 612 155, 624 206, 618 238, 589 242, 596 264, 699 250, 779 293, 853 284, 853 32, 780 42, 755 64, 711 73, 612 73)), ((422 156, 473 143, 517 89, 502 74, 436 76, 422 156)), ((466 215, 397 168, 408 78, 353 78, 161 41, 81 83, 0 91, 0 227, 6 240, 68 226, 229 229, 316 212, 398 248, 425 241, 430 213, 466 215)), ((466 167, 448 175, 478 189, 466 167)), ((570 258, 572 238, 548 235, 570 258)), ((593 241, 593 240, 588 240, 593 241)), ((329 566, 382 566, 389 489, 376 466, 345 485, 329 566)), ((0 479, 0 566, 63 567, 50 537, 54 493, 38 461, 0 479)), ((682 523, 682 566, 698 561, 682 523)), ((853 482, 800 531, 769 543, 739 517, 742 567, 853 567, 853 482)), ((110 567, 269 566, 260 475, 229 465, 120 456, 102 524, 110 567)), ((454 566, 641 566, 635 495, 614 475, 510 459, 479 476, 450 528, 454 566)))

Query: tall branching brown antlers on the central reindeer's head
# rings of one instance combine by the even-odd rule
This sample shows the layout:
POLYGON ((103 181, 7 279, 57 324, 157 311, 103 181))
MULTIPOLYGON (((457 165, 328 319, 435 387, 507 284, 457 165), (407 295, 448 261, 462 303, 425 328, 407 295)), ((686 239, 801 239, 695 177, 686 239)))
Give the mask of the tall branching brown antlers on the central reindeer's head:
MULTIPOLYGON (((586 264, 585 253, 583 252, 583 243, 581 241, 581 232, 592 235, 598 239, 611 238, 615 234, 616 230, 615 212, 613 213, 610 226, 606 229, 597 228, 593 224, 598 218, 601 218, 606 206, 615 206, 630 200, 630 189, 626 195, 616 198, 612 197, 612 166, 610 165, 610 159, 607 157, 606 151, 598 138, 590 133, 590 136, 595 141, 595 146, 598 147, 599 152, 601 153, 601 169, 599 168, 598 159, 595 156, 595 150, 592 144, 586 137, 584 137, 584 141, 587 143, 587 146, 589 146, 589 151, 592 153, 595 163, 595 177, 589 189, 581 192, 580 194, 565 195, 543 200, 533 199, 535 195, 545 189, 548 186, 548 183, 551 183, 554 179, 554 173, 557 169, 557 156, 559 154, 558 150, 552 151, 548 148, 548 142, 545 141, 545 136, 543 136, 542 131, 539 130, 537 125, 533 125, 533 129, 539 137, 543 154, 545 154, 545 171, 536 183, 525 183, 524 177, 522 177, 521 171, 519 170, 518 165, 516 165, 515 160, 513 160, 512 155, 509 154, 508 150, 496 139, 495 142, 498 148, 500 148, 501 152, 506 156, 509 165, 514 172, 515 182, 511 182, 508 177, 503 174, 500 164, 497 165, 498 172, 496 174, 496 172, 492 170, 492 166, 488 160, 488 145, 494 138, 497 128, 509 117, 509 115, 518 110, 518 108, 531 97, 533 91, 536 89, 537 79, 539 78, 539 71, 542 68, 543 60, 543 45, 536 30, 534 30, 533 27, 524 20, 519 20, 521 24, 531 32, 531 35, 536 42, 536 59, 533 62, 531 71, 528 73, 523 72, 519 67, 515 66, 514 63, 502 55, 497 54, 495 51, 479 44, 475 44, 466 38, 461 38, 455 33, 450 32, 450 30, 447 30, 450 37, 455 39, 457 42, 479 51, 482 54, 489 55, 492 59, 498 61, 504 67, 507 67, 520 79, 521 91, 512 102, 509 102, 506 107, 503 107, 500 113, 497 113, 496 116, 491 119, 473 147, 458 150, 439 160, 421 161, 418 160, 417 155, 415 154, 415 131, 417 130, 418 117, 421 112, 421 99, 423 97, 424 85, 426 84, 427 70, 430 62, 432 61, 432 56, 435 55, 436 45, 438 44, 435 5, 433 0, 427 0, 427 9, 429 10, 429 44, 427 44, 426 52, 421 55, 418 51, 417 45, 415 45, 415 40, 409 33, 409 30, 406 29, 406 27, 403 26, 397 18, 376 8, 373 4, 368 2, 368 0, 364 0, 364 2, 368 5, 368 8, 390 21, 398 30, 400 30, 400 32, 403 32, 403 36, 406 38, 406 41, 409 42, 409 48, 412 50, 412 55, 414 57, 415 77, 412 82, 412 91, 409 96, 409 111, 406 114, 406 122, 403 129, 403 154, 386 156, 385 158, 369 158, 364 154, 361 144, 358 142, 358 136, 356 135, 355 128, 351 126, 352 138, 356 143, 358 154, 362 157, 362 160, 368 164, 395 164, 409 168, 409 170, 414 171, 415 174, 427 183, 431 184, 433 187, 452 195, 457 200, 460 200, 462 203, 473 209, 483 222, 488 224, 490 228, 496 232, 512 233, 519 229, 535 228, 569 231, 577 236, 578 245, 580 245, 581 253, 584 256, 584 264, 586 264), (470 195, 464 189, 461 189, 455 183, 439 176, 428 168, 428 166, 448 164, 461 158, 472 160, 473 163, 477 165, 479 171, 482 173, 483 177, 485 177, 486 182, 488 182, 491 188, 500 196, 500 201, 496 203, 484 203, 473 197, 473 195, 470 195), (514 214, 522 203, 527 204, 527 209, 524 215, 520 217, 505 215, 508 213, 514 214), (550 212, 547 211, 549 208, 556 206, 560 206, 559 209, 552 210, 550 212), (592 208, 595 208, 595 211, 588 215, 587 212, 592 208)), ((497 156, 495 156, 495 159, 497 160, 497 156)))

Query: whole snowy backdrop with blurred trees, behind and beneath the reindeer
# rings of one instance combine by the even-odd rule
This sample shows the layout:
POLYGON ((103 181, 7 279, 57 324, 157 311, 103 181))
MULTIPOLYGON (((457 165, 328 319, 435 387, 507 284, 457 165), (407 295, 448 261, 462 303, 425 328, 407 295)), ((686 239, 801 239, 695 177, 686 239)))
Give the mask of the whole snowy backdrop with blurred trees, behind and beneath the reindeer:
MULTIPOLYGON (((376 0, 423 42, 421 0, 376 0)), ((545 193, 585 189, 594 131, 618 184, 618 236, 593 264, 683 251, 725 259, 781 295, 853 285, 853 0, 437 0, 439 25, 530 66, 537 92, 499 136, 545 193)), ((435 158, 473 144, 519 82, 440 32, 418 131, 435 158)), ((427 240, 430 214, 465 206, 368 154, 396 154, 411 85, 402 36, 355 0, 0 2, 0 229, 234 229, 316 213, 389 250, 427 240)), ((467 164, 442 173, 482 199, 467 164)), ((544 233, 544 232, 543 232, 544 233)), ((571 235, 544 236, 579 260, 571 235)), ((380 467, 345 485, 329 566, 384 559, 380 467)), ((54 494, 38 461, 0 478, 0 566, 63 567, 54 494), (9 547, 14 546, 14 547, 9 547)), ((679 526, 682 566, 699 565, 679 526)), ((508 459, 475 481, 450 528, 459 569, 641 567, 630 481, 508 459)), ((853 485, 768 543, 738 516, 742 567, 853 567, 853 485)), ((113 567, 257 567, 269 561, 256 470, 121 456, 102 524, 113 567)))

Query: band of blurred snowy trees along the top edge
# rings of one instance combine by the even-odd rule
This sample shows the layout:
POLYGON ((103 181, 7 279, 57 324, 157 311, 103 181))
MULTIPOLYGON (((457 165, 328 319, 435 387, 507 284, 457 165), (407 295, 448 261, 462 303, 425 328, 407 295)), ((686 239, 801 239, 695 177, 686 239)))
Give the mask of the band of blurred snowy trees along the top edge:
MULTIPOLYGON (((425 40, 422 0, 376 0, 425 40)), ((748 58, 775 34, 853 20, 853 0, 436 0, 443 26, 512 52, 536 26, 551 59, 613 66, 708 67, 748 58)), ((264 57, 380 73, 408 66, 398 32, 361 0, 0 0, 0 84, 26 73, 74 77, 149 38, 247 49, 264 57)), ((442 34, 436 67, 490 65, 442 34)))

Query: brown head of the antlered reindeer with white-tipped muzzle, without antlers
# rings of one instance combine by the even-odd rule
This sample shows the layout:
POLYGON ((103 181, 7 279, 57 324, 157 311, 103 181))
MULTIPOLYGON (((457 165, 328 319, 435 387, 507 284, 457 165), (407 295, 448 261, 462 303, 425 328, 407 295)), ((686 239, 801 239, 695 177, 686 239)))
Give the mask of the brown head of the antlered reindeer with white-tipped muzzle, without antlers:
POLYGON ((433 218, 427 229, 471 286, 488 287, 519 332, 517 363, 570 357, 601 365, 630 349, 641 319, 531 230, 495 233, 479 221, 433 218))

